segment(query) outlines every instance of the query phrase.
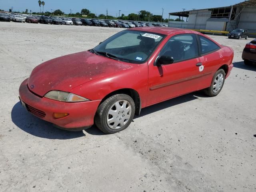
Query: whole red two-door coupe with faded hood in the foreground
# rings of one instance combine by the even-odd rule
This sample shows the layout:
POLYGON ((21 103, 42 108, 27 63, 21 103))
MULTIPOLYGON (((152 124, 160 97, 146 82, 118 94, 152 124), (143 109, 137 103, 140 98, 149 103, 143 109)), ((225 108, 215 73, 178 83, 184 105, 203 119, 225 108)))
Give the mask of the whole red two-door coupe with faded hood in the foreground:
POLYGON ((195 31, 146 27, 123 30, 95 48, 34 68, 20 101, 61 128, 96 124, 124 130, 141 108, 204 89, 216 96, 229 76, 233 50, 195 31))

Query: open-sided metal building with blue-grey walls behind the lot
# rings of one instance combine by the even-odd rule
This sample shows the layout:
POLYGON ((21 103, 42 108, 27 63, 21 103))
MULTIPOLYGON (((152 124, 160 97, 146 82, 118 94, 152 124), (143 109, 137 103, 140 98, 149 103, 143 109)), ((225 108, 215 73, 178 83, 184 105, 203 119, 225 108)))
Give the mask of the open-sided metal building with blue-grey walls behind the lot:
POLYGON ((236 28, 256 33, 256 0, 232 6, 169 13, 184 18, 184 22, 169 21, 168 27, 231 31, 236 28))

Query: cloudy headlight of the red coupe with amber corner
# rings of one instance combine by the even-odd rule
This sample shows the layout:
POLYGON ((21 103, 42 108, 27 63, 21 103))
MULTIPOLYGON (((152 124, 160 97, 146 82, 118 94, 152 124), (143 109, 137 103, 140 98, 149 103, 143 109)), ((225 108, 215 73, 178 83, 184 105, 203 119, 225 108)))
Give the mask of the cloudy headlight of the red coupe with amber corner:
POLYGON ((76 94, 72 94, 69 92, 64 91, 50 91, 45 94, 46 98, 56 100, 56 101, 62 101, 62 102, 82 102, 82 101, 89 101, 88 99, 78 96, 76 94))

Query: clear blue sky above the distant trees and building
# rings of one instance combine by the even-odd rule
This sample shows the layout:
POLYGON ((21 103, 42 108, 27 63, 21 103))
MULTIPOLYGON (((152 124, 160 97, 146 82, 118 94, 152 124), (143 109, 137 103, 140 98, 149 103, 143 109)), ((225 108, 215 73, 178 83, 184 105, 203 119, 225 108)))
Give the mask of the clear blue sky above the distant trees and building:
MULTIPOLYGON (((41 0, 42 1, 42 0, 41 0)), ((150 11, 155 15, 162 15, 162 8, 164 9, 164 18, 168 18, 168 13, 182 11, 182 9, 203 9, 213 7, 230 6, 242 2, 243 0, 182 0, 180 3, 177 0, 97 0, 97 1, 85 1, 85 0, 44 0, 44 12, 56 9, 60 9, 65 13, 81 12, 82 8, 86 8, 95 14, 106 14, 108 9, 108 15, 119 16, 128 15, 129 13, 138 13, 140 10, 150 11)), ((25 11, 26 9, 32 10, 32 12, 40 12, 38 6, 38 0, 0 0, 0 9, 6 11, 13 7, 14 11, 25 11)), ((42 6, 41 6, 42 9, 42 6)), ((171 17, 173 18, 173 17, 171 17)), ((176 17, 174 17, 176 18, 176 17)))

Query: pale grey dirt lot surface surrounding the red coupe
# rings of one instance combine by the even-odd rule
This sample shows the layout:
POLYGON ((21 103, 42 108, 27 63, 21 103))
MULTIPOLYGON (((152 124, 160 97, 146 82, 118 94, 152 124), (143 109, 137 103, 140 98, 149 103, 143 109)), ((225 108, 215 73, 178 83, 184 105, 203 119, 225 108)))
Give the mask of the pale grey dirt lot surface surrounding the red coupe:
POLYGON ((0 22, 0 191, 256 191, 256 66, 241 59, 252 38, 211 36, 234 49, 218 96, 144 108, 117 134, 59 130, 22 108, 18 88, 35 66, 120 30, 0 22))

